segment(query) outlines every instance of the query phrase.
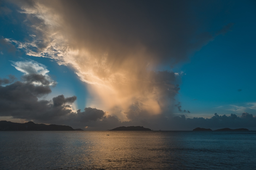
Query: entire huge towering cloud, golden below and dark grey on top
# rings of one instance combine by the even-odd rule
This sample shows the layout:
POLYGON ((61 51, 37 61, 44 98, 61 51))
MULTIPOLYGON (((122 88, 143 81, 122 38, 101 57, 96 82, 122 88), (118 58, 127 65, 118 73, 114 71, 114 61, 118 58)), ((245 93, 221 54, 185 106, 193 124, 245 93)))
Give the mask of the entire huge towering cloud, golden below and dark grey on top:
POLYGON ((6 43, 72 67, 88 84, 86 107, 122 121, 172 117, 174 107, 188 112, 175 100, 186 74, 171 68, 234 25, 209 29, 189 1, 14 2, 28 35, 6 43))

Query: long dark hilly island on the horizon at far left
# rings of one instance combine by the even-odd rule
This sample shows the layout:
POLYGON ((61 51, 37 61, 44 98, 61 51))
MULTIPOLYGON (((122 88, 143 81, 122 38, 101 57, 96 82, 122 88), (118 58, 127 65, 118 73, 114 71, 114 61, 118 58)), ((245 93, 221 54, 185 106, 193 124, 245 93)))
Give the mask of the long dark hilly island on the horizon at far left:
POLYGON ((56 124, 35 124, 34 122, 13 123, 10 121, 0 121, 0 131, 83 131, 82 129, 73 129, 66 125, 56 124))

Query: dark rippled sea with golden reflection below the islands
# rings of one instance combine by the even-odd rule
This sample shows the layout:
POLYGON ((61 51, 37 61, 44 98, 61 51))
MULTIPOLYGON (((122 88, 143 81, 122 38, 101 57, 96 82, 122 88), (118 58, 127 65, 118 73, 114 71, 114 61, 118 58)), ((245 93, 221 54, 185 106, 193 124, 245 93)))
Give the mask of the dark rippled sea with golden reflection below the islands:
POLYGON ((0 131, 0 169, 255 170, 256 131, 0 131))

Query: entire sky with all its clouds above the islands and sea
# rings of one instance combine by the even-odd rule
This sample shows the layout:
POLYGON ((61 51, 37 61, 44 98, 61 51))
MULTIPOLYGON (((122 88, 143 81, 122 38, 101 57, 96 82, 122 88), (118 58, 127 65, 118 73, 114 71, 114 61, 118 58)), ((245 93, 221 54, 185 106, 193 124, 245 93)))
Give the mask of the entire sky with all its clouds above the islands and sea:
POLYGON ((0 120, 256 129, 256 1, 0 1, 0 120))

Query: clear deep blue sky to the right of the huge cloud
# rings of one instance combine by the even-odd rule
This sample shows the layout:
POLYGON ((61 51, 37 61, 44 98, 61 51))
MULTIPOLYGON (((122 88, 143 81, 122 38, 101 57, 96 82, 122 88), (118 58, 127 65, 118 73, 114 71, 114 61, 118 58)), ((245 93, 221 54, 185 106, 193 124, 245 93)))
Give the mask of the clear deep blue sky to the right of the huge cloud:
POLYGON ((193 113, 231 114, 228 109, 238 109, 234 106, 256 113, 248 109, 256 95, 255 3, 236 4, 229 16, 232 31, 217 36, 179 69, 186 73, 179 99, 193 113))

